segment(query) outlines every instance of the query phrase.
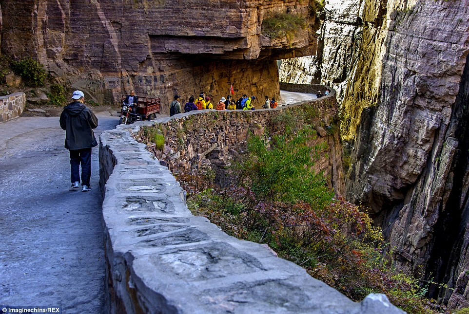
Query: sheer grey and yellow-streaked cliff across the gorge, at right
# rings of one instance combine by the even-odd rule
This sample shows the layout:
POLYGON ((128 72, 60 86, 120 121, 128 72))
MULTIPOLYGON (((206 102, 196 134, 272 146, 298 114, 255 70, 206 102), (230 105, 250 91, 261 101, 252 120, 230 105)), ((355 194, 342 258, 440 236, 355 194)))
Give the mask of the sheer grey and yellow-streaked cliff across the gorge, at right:
POLYGON ((342 130, 352 143, 347 196, 371 206, 396 248, 396 266, 456 288, 429 293, 467 307, 469 1, 344 4, 356 23, 331 39, 331 21, 324 22, 323 44, 309 62, 313 82, 344 87, 342 130), (339 49, 328 47, 342 38, 339 49), (341 64, 343 76, 334 70, 341 64))

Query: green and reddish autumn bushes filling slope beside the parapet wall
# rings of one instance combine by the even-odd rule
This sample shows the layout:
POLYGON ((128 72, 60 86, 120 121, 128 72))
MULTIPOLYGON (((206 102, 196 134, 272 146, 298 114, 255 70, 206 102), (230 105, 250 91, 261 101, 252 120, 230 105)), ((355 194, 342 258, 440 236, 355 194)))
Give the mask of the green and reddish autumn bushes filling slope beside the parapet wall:
POLYGON ((408 313, 432 313, 427 286, 396 271, 366 208, 335 197, 312 171, 324 147, 306 125, 270 138, 250 136, 226 175, 178 174, 188 206, 239 239, 268 244, 355 301, 383 293, 408 313))

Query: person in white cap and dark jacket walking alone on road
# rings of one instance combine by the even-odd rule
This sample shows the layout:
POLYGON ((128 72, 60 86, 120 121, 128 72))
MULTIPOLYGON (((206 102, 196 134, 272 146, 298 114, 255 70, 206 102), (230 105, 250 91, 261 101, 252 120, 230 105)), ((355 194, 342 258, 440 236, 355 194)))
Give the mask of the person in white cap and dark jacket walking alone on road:
POLYGON ((80 185, 82 191, 91 190, 91 148, 98 145, 93 129, 98 127, 98 118, 84 104, 85 96, 81 91, 73 92, 74 102, 63 108, 60 114, 60 128, 65 130, 65 148, 70 150, 70 190, 80 185))

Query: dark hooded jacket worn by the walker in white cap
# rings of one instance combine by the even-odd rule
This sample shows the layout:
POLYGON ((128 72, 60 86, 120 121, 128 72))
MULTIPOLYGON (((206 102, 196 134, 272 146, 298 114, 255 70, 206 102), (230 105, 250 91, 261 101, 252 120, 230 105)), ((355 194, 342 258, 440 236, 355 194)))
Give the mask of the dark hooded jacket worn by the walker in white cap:
POLYGON ((65 106, 60 114, 60 128, 65 132, 65 148, 70 150, 92 148, 98 145, 93 129, 98 127, 98 118, 79 101, 65 106))

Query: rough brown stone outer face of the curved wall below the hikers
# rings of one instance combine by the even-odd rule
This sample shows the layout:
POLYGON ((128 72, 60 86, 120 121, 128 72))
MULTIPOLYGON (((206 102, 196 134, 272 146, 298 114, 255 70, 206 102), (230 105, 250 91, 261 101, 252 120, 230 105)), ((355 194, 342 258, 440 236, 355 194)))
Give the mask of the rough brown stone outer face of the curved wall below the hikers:
MULTIPOLYGON (((302 88, 308 92, 307 88, 302 88)), ((324 86, 319 88, 324 90, 324 86)), ((322 152, 324 157, 316 162, 313 169, 323 171, 329 186, 336 193, 342 194, 344 176, 335 103, 335 95, 332 93, 319 100, 275 110, 206 110, 191 115, 178 114, 168 122, 155 125, 155 128, 163 131, 164 148, 158 150, 151 143, 149 149, 173 172, 201 174, 207 169, 216 171, 230 165, 236 155, 245 151, 251 132, 258 136, 272 136, 282 133, 286 123, 299 125, 304 121, 313 125, 317 132, 317 137, 310 145, 327 145, 322 152)), ((258 103, 255 106, 261 107, 258 103)), ((142 133, 137 139, 146 142, 142 133)))

